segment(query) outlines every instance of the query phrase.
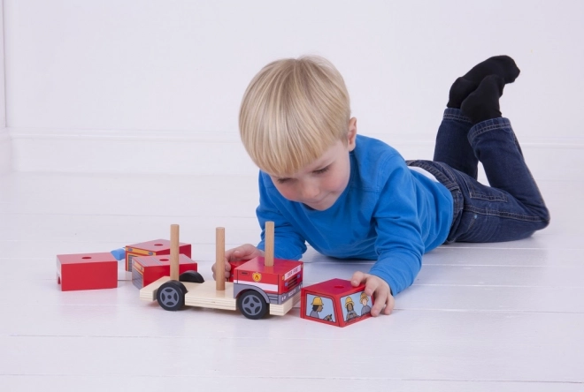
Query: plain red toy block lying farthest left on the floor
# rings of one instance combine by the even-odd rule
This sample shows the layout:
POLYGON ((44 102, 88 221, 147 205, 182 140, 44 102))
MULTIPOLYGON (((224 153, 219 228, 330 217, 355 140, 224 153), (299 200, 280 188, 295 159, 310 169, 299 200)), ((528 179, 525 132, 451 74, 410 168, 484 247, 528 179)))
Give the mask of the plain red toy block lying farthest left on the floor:
POLYGON ((62 291, 118 287, 118 260, 111 253, 57 255, 57 283, 62 291))

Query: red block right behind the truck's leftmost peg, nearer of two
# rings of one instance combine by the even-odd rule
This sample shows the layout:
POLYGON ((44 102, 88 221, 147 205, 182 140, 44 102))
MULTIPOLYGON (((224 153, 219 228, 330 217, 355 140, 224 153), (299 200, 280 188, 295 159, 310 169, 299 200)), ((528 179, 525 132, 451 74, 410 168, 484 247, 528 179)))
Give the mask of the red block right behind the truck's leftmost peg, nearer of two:
MULTIPOLYGON (((170 276, 170 256, 139 256, 134 257, 132 268, 132 283, 138 289, 158 281, 163 276, 170 276)), ((179 255, 179 274, 196 271, 196 261, 188 256, 179 255)))

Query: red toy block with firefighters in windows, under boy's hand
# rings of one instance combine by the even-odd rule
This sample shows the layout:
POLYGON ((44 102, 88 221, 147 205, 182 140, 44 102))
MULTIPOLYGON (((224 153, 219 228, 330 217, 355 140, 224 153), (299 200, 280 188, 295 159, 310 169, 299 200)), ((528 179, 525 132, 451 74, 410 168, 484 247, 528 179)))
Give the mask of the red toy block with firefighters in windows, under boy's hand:
POLYGON ((365 284, 353 287, 350 281, 331 279, 302 289, 300 317, 337 327, 346 327, 371 317, 373 297, 365 294, 365 284))

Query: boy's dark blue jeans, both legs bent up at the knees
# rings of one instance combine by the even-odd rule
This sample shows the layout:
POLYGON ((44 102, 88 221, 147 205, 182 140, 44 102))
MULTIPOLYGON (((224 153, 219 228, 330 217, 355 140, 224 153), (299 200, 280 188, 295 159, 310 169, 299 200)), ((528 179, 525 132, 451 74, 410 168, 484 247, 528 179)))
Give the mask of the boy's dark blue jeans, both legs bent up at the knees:
POLYGON ((434 160, 408 165, 429 171, 452 192, 454 215, 446 244, 511 241, 549 224, 548 208, 507 118, 473 125, 459 109, 446 109, 434 160), (479 161, 490 186, 477 181, 479 161))

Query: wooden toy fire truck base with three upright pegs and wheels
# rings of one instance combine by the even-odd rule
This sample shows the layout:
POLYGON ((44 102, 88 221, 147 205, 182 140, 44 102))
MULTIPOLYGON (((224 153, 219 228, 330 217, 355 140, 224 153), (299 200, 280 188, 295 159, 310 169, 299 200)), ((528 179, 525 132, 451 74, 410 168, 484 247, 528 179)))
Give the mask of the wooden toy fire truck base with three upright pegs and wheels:
POLYGON ((236 310, 257 320, 266 313, 283 316, 299 301, 303 263, 273 258, 273 222, 266 222, 265 257, 246 261, 232 270, 225 282, 225 230, 217 229, 216 281, 204 282, 197 272, 178 273, 179 226, 171 226, 171 276, 164 276, 140 290, 140 298, 158 301, 163 309, 183 306, 236 310))

